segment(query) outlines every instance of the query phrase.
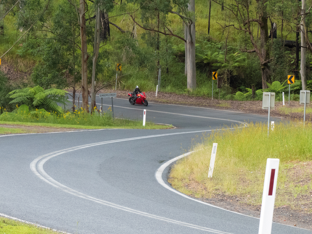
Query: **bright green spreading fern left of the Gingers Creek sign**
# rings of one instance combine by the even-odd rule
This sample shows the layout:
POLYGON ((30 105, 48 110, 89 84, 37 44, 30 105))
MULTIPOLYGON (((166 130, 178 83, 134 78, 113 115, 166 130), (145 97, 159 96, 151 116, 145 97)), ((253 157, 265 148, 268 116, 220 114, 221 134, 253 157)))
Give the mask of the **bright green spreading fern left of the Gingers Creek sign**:
POLYGON ((57 104, 65 105, 67 100, 67 91, 51 88, 44 90, 40 86, 33 88, 24 88, 13 90, 8 93, 8 97, 13 99, 10 103, 16 103, 22 105, 25 104, 30 107, 30 109, 45 109, 47 111, 55 111, 58 114, 63 113, 63 109, 57 104))

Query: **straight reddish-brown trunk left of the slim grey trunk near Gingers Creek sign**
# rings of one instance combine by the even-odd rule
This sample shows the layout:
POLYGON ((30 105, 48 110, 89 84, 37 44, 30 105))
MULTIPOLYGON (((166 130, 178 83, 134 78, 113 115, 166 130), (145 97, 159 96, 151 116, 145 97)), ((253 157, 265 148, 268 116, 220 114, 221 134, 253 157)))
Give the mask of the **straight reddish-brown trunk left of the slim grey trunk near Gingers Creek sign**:
POLYGON ((81 107, 89 113, 88 101, 88 70, 87 70, 87 37, 85 28, 85 1, 80 0, 80 39, 81 39, 81 85, 82 85, 82 104, 81 107))

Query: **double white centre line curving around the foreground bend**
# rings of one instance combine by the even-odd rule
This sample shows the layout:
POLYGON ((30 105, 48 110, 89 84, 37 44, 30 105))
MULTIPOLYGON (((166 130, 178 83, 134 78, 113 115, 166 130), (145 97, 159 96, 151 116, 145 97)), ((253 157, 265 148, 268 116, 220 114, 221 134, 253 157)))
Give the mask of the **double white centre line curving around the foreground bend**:
MULTIPOLYGON (((206 130, 206 132, 207 131, 211 131, 211 130, 206 130)), ((95 198, 95 197, 91 197, 89 195, 86 195, 84 193, 80 193, 80 192, 78 192, 78 191, 76 191, 74 189, 71 189, 71 188, 69 188, 69 187, 67 187, 67 186, 57 182, 56 180, 51 178, 43 169, 43 164, 47 160, 49 160, 50 158, 53 158, 53 157, 61 155, 61 154, 65 154, 67 152, 75 151, 75 150, 78 150, 78 149, 84 149, 84 148, 93 147, 93 146, 97 146, 97 145, 110 144, 110 143, 116 143, 116 142, 122 142, 122 141, 138 140, 138 139, 144 139, 144 138, 161 137, 161 136, 176 135, 176 134, 197 133, 197 132, 204 132, 204 131, 193 131, 193 132, 181 132, 181 133, 171 133, 171 134, 150 135, 150 136, 145 136, 145 137, 134 137, 134 138, 111 140, 111 141, 103 141, 103 142, 98 142, 98 143, 92 143, 92 144, 85 144, 85 145, 75 146, 75 147, 71 147, 71 148, 68 148, 68 149, 58 150, 58 151, 55 151, 55 152, 52 152, 52 153, 49 153, 49 154, 42 155, 42 156, 36 158, 34 161, 32 161, 32 163, 30 163, 30 168, 31 168, 33 173, 35 173, 39 178, 41 178, 46 183, 49 183, 52 186, 54 186, 55 188, 59 188, 62 191, 66 192, 66 193, 70 193, 70 194, 72 194, 74 196, 77 196, 77 197, 81 197, 81 198, 84 198, 84 199, 87 199, 87 200, 90 200, 90 201, 93 201, 93 202, 100 203, 100 204, 105 205, 105 206, 109 206, 109 207, 113 207, 113 208, 116 208, 116 209, 123 210, 123 211, 126 211, 126 212, 131 212, 131 213, 135 213, 135 214, 138 214, 138 215, 143 215, 145 217, 150 217, 150 218, 162 220, 162 221, 165 221, 165 222, 175 223, 175 224, 178 224, 178 225, 181 225, 181 226, 185 226, 185 227, 191 227, 191 228, 199 229, 199 230, 202 230, 202 231, 218 233, 218 234, 231 234, 231 233, 228 233, 228 232, 222 232, 222 231, 214 230, 212 228, 201 227, 201 226, 198 226, 198 225, 194 225, 194 224, 190 224, 190 223, 186 223, 186 222, 180 222, 180 221, 169 219, 169 218, 166 218, 166 217, 161 217, 161 216, 149 214, 149 213, 146 213, 146 212, 141 212, 141 211, 138 211, 138 210, 131 209, 129 207, 120 206, 120 205, 117 205, 117 204, 112 203, 112 202, 107 202, 107 201, 100 200, 100 199, 95 198)))

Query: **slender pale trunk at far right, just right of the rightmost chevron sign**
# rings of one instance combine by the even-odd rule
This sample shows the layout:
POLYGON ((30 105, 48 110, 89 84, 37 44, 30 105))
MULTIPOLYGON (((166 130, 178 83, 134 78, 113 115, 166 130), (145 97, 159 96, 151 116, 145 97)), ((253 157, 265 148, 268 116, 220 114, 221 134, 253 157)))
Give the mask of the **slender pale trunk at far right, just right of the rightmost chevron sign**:
POLYGON ((305 0, 302 0, 302 9, 301 9, 301 61, 300 61, 300 75, 301 75, 301 84, 302 90, 306 88, 306 72, 305 72, 305 53, 306 53, 306 39, 305 39, 305 0))

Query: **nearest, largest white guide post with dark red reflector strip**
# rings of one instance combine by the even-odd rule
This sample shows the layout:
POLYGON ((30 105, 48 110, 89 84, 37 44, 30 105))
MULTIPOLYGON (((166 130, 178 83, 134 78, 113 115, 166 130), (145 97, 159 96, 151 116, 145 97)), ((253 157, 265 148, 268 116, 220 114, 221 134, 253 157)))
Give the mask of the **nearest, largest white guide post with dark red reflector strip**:
POLYGON ((271 234, 279 164, 280 159, 278 158, 268 158, 266 160, 259 234, 271 234))

